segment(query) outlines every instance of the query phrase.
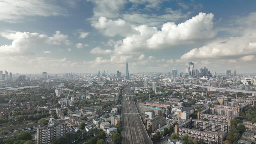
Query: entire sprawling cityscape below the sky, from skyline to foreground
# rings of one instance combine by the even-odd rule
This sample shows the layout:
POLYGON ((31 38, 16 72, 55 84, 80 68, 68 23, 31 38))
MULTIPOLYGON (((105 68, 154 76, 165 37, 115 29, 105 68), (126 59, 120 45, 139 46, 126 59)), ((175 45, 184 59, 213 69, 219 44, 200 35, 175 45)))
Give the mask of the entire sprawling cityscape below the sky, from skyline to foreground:
POLYGON ((0 144, 255 144, 256 75, 125 69, 0 71, 0 144))

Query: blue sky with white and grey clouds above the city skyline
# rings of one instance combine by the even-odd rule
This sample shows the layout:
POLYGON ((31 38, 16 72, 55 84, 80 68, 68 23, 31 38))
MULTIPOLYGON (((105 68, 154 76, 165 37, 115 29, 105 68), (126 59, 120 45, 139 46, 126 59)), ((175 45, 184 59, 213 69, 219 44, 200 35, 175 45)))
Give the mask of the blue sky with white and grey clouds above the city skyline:
POLYGON ((256 1, 0 0, 0 70, 255 73, 256 1))

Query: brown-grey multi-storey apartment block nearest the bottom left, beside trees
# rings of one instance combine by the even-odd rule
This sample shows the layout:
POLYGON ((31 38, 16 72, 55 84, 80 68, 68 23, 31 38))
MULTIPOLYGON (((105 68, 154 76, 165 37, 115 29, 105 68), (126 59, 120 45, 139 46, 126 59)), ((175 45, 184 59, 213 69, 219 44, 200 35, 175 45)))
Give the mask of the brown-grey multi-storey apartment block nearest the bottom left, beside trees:
POLYGON ((66 133, 66 124, 57 120, 52 120, 48 126, 38 127, 36 129, 36 143, 50 144, 52 139, 58 139, 66 133))

